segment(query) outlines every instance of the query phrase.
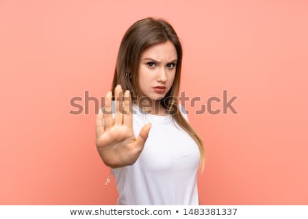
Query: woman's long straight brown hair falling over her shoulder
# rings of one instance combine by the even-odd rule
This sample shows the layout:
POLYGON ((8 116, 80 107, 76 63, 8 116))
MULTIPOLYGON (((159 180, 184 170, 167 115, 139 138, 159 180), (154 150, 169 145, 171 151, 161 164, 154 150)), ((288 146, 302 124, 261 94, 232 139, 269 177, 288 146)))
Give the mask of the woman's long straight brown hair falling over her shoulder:
MULTIPOLYGON (((175 45, 177 51, 177 66, 173 84, 160 103, 162 103, 162 106, 169 112, 172 112, 172 119, 189 133, 198 144, 200 164, 203 169, 205 162, 203 141, 187 120, 185 120, 179 110, 178 96, 183 51, 175 29, 173 29, 169 23, 162 19, 144 18, 133 23, 133 25, 127 29, 118 51, 112 91, 114 91, 116 85, 120 84, 124 91, 130 90, 133 97, 136 96, 140 98, 142 94, 138 86, 138 66, 142 52, 154 44, 166 42, 168 40, 175 45)), ((133 101, 135 101, 134 98, 133 101)))

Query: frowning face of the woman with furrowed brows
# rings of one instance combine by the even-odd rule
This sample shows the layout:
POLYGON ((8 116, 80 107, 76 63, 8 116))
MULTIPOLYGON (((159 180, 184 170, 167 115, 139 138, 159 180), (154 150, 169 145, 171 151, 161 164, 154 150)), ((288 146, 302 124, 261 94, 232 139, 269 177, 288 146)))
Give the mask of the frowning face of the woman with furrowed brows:
POLYGON ((146 49, 140 58, 138 85, 143 96, 163 99, 175 79, 177 51, 172 42, 162 42, 146 49))

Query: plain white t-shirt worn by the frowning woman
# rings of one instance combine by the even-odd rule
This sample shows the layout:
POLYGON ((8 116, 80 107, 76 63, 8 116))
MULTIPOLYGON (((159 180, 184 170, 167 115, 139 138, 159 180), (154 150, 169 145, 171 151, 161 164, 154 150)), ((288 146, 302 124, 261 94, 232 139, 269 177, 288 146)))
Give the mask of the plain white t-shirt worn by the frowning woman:
POLYGON ((112 169, 119 194, 117 204, 198 205, 200 153, 194 139, 175 126, 170 115, 144 114, 137 105, 133 110, 136 138, 146 123, 152 127, 135 164, 112 169))

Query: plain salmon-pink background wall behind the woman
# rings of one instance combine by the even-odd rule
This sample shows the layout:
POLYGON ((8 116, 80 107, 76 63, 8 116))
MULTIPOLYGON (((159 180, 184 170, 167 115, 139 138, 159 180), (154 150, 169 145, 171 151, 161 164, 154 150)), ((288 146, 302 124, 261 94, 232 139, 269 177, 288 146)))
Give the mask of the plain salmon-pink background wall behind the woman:
POLYGON ((201 203, 308 205, 307 1, 106 2, 0 1, 0 204, 116 203, 94 104, 71 115, 70 99, 103 96, 124 32, 155 16, 183 41, 197 108, 238 96, 238 114, 189 116, 207 149, 201 203))

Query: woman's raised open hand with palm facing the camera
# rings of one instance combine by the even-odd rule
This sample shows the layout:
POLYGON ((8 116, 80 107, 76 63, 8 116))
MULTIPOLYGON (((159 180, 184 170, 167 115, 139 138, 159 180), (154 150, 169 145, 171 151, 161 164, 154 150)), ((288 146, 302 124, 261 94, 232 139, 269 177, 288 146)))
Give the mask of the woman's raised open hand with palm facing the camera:
POLYGON ((100 110, 96 121, 96 144, 103 162, 112 168, 134 164, 138 159, 151 129, 144 125, 138 138, 133 134, 132 101, 129 90, 120 85, 114 89, 116 109, 112 116, 112 92, 105 96, 105 107, 100 110))

